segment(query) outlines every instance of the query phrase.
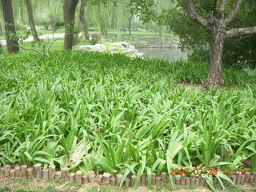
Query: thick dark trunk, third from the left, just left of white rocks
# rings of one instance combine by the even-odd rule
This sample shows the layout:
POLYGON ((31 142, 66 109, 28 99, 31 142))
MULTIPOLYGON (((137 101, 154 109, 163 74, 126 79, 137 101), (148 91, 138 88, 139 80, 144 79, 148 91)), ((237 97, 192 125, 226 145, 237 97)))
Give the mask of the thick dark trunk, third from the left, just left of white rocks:
POLYGON ((65 38, 64 50, 72 50, 74 41, 74 14, 78 0, 64 0, 65 38))

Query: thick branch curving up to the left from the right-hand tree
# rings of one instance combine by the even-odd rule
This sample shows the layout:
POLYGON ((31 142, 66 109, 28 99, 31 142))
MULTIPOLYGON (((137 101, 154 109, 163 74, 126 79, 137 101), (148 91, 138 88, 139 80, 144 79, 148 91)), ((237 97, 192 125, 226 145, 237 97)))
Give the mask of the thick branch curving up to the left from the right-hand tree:
POLYGON ((211 30, 210 23, 207 21, 207 19, 202 18, 202 16, 196 13, 192 0, 185 0, 185 2, 190 17, 193 18, 196 22, 198 22, 198 24, 200 24, 201 26, 204 26, 207 30, 211 30))

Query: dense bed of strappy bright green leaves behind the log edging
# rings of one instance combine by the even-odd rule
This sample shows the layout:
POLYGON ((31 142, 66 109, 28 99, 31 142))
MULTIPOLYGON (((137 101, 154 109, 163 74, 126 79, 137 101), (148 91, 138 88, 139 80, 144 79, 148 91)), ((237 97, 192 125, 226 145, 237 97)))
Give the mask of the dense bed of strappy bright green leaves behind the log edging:
POLYGON ((136 173, 136 182, 171 168, 256 170, 254 74, 225 69, 229 87, 204 91, 176 85, 202 82, 203 63, 76 52, 0 62, 3 164, 136 173))

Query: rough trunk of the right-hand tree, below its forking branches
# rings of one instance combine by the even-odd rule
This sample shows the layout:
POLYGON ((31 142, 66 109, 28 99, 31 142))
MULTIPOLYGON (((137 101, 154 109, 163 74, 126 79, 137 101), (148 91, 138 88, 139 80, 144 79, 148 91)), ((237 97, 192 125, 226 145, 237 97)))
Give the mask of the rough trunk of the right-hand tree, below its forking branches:
POLYGON ((224 86, 224 80, 222 79, 222 54, 224 38, 225 28, 220 26, 214 27, 210 51, 210 69, 206 82, 204 83, 206 88, 210 86, 217 88, 224 86))

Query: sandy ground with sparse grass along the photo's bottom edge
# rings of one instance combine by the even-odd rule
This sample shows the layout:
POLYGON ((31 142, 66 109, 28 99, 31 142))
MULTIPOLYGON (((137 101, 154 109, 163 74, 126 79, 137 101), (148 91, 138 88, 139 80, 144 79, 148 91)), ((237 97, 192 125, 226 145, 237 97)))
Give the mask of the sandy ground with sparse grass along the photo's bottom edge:
MULTIPOLYGON (((10 179, 10 178, 1 178, 0 177, 0 191, 7 192, 7 191, 31 191, 33 192, 46 192, 46 191, 53 191, 53 192, 133 192, 132 188, 126 189, 122 188, 119 189, 116 186, 100 186, 97 184, 90 184, 86 183, 85 185, 78 185, 77 182, 64 182, 62 180, 56 181, 43 181, 43 180, 36 180, 36 179, 10 179), (6 187, 6 190, 2 190, 6 187), (8 189, 8 190, 7 190, 8 189)), ((187 186, 171 188, 170 186, 156 186, 152 189, 148 187, 138 187, 136 192, 167 192, 167 191, 174 191, 174 192, 210 192, 206 187, 196 187, 196 186, 187 186)), ((241 187, 226 187, 226 190, 216 190, 216 191, 224 191, 224 192, 244 192, 244 191, 251 191, 255 192, 255 186, 242 186, 241 187)))

